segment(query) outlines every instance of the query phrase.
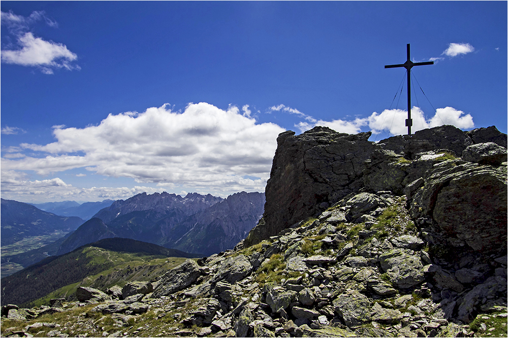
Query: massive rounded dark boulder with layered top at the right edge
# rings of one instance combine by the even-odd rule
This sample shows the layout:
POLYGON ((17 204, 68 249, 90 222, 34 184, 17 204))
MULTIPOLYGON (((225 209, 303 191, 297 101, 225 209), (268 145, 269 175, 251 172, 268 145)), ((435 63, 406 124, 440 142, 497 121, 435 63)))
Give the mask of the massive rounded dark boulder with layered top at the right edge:
POLYGON ((506 167, 447 161, 410 194, 411 216, 427 219, 441 244, 506 252, 506 167))

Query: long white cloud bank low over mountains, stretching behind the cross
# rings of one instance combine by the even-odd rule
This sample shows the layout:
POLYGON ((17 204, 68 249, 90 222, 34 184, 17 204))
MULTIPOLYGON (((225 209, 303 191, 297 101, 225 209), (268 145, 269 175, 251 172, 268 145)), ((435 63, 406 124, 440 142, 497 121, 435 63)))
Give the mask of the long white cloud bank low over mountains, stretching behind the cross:
MULTIPOLYGON (((455 125, 474 127, 472 117, 452 107, 439 108, 426 118, 414 107, 414 131, 455 125)), ((406 133, 407 112, 401 109, 373 112, 366 118, 323 121, 283 104, 269 113, 294 114, 302 121, 300 132, 327 126, 338 132, 406 133), (368 129, 367 129, 368 128, 368 129)), ((13 129, 13 128, 11 128, 13 129)), ((109 115, 99 125, 85 128, 54 126, 55 142, 22 143, 4 148, 2 192, 5 198, 37 200, 101 200, 128 198, 137 193, 196 191, 226 197, 239 191, 263 192, 270 175, 276 139, 284 128, 258 123, 244 105, 220 109, 209 103, 190 103, 181 111, 169 104, 142 113, 109 115), (59 177, 72 170, 86 170, 73 176, 86 180, 93 175, 126 177, 135 187, 75 187, 59 177), (45 179, 33 179, 30 172, 45 179)))

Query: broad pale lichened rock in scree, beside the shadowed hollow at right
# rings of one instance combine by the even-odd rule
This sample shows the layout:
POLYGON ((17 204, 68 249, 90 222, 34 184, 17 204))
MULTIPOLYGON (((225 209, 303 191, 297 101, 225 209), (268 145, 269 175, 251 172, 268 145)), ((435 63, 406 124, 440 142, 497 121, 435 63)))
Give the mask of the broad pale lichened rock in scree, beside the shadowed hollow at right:
POLYGON ((400 288, 415 286, 424 280, 422 261, 404 249, 393 249, 379 256, 381 267, 388 278, 400 288))

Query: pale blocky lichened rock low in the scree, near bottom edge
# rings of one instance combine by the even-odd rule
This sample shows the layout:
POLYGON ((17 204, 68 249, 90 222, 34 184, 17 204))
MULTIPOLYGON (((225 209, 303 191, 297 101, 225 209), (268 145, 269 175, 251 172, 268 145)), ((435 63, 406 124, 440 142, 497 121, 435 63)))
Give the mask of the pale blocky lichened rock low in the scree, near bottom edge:
POLYGON ((333 306, 348 327, 371 321, 369 300, 358 291, 352 290, 339 295, 334 299, 333 306))

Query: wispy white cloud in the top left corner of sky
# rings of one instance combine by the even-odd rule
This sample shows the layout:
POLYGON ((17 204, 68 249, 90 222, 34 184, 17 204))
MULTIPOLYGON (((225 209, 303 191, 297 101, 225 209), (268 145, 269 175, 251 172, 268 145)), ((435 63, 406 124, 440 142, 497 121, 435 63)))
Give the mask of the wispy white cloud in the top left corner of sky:
POLYGON ((7 48, 3 46, 0 52, 1 61, 22 66, 36 66, 44 74, 52 74, 55 68, 80 69, 78 65, 73 64, 73 61, 78 58, 77 55, 67 46, 45 41, 27 31, 31 24, 41 19, 52 27, 57 26, 56 22, 48 19, 44 12, 33 12, 27 18, 12 12, 2 12, 2 24, 8 27, 11 35, 15 36, 16 43, 7 48))

